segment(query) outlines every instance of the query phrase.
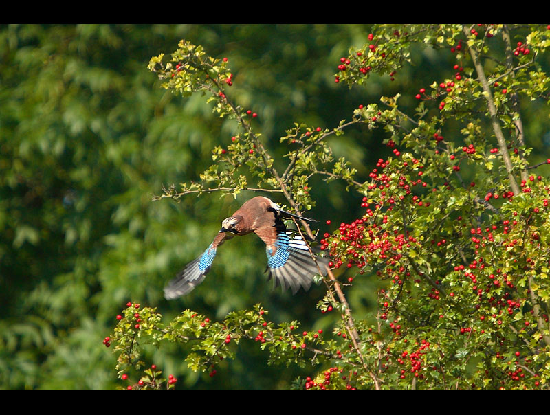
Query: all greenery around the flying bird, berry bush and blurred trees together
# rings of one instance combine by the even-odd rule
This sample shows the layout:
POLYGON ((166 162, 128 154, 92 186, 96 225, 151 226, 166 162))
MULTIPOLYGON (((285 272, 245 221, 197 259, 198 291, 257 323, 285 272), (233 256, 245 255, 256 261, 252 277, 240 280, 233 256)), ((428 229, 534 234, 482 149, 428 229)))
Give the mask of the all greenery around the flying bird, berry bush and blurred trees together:
POLYGON ((547 389, 549 33, 3 26, 0 388, 547 389), (254 192, 329 278, 162 300, 254 192))

